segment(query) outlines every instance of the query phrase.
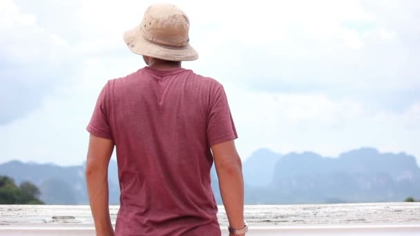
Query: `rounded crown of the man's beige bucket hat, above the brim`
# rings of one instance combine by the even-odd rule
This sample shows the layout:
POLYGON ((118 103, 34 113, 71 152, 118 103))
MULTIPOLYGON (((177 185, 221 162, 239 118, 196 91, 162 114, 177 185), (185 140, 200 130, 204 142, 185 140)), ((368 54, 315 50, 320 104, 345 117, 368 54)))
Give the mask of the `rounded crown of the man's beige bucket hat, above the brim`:
POLYGON ((161 46, 182 48, 189 45, 187 14, 170 4, 147 8, 141 24, 142 37, 161 46))

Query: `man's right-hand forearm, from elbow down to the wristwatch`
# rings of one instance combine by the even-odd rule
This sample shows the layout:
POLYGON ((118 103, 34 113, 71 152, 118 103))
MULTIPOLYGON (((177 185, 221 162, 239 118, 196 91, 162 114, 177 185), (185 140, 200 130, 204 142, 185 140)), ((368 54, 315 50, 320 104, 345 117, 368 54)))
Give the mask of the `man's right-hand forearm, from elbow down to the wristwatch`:
POLYGON ((240 229, 244 227, 244 181, 240 164, 221 166, 217 170, 219 188, 229 226, 240 229))

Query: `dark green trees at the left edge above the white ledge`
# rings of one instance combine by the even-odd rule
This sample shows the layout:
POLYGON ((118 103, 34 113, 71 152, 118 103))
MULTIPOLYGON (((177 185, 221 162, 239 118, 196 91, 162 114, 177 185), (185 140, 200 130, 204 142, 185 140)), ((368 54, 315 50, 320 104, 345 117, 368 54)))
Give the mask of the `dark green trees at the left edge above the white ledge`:
POLYGON ((0 204, 44 204, 39 194, 37 186, 29 181, 17 186, 12 178, 0 175, 0 204))

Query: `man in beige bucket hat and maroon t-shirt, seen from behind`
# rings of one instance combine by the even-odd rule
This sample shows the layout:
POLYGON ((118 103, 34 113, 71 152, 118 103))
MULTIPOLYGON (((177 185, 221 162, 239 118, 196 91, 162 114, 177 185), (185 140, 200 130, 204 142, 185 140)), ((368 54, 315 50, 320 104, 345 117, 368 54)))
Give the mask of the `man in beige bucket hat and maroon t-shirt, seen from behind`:
POLYGON ((242 167, 223 87, 181 68, 198 59, 189 19, 172 5, 149 7, 124 34, 146 67, 108 81, 88 124, 86 180, 97 235, 220 235, 211 190, 213 160, 231 235, 245 235, 242 167), (117 149, 120 211, 108 209, 108 163, 117 149))

